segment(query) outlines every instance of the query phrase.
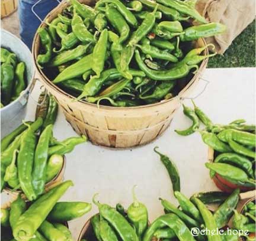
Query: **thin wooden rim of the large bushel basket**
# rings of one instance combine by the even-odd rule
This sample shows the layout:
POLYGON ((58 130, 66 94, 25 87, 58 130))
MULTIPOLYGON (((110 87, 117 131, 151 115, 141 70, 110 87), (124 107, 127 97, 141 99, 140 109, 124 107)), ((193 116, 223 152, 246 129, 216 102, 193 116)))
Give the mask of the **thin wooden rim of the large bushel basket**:
MULTIPOLYGON (((69 6, 70 3, 69 2, 63 2, 60 3, 59 5, 56 6, 56 8, 54 8, 52 11, 49 12, 49 14, 47 14, 47 16, 44 19, 47 19, 50 17, 50 15, 52 15, 53 12, 59 10, 60 8, 64 8, 66 6, 69 6)), ((41 22, 41 24, 39 25, 40 27, 43 27, 44 25, 46 25, 44 23, 45 21, 41 22)), ((53 84, 51 80, 49 80, 46 75, 43 73, 43 71, 39 68, 39 66, 36 64, 36 41, 39 39, 39 34, 36 32, 36 34, 34 35, 34 39, 33 39, 33 45, 32 45, 32 55, 33 55, 33 61, 34 61, 34 65, 36 66, 36 70, 39 73, 39 76, 41 77, 41 80, 43 81, 44 84, 47 84, 47 86, 49 86, 50 88, 54 89, 56 92, 59 93, 59 95, 62 95, 63 97, 65 97, 66 99, 69 99, 71 102, 75 102, 74 100, 76 99, 75 97, 73 97, 72 95, 69 95, 68 93, 66 93, 64 90, 60 89, 56 84, 53 84)), ((202 41, 204 47, 206 47, 206 40, 204 38, 199 38, 199 40, 197 41, 202 41)), ((205 50, 205 55, 207 55, 209 53, 208 48, 206 48, 205 50)), ((209 58, 205 58, 200 66, 199 66, 199 70, 197 71, 196 74, 194 74, 194 76, 190 79, 190 81, 186 84, 186 86, 181 89, 181 91, 178 93, 177 96, 172 97, 171 99, 168 100, 162 100, 160 102, 157 103, 153 103, 150 105, 140 105, 140 106, 132 106, 132 107, 117 107, 117 106, 105 106, 105 105, 97 105, 95 103, 89 103, 86 102, 84 100, 79 100, 79 103, 82 103, 84 105, 88 105, 91 106, 92 108, 97 108, 97 109, 105 109, 105 110, 114 110, 114 111, 118 111, 118 110, 137 110, 137 109, 142 109, 142 108, 152 108, 152 107, 156 107, 159 105, 163 105, 165 103, 171 102, 174 99, 178 99, 179 101, 181 99, 183 99, 183 92, 185 90, 187 90, 198 78, 200 78, 201 72, 204 70, 204 67, 207 66, 209 58)))

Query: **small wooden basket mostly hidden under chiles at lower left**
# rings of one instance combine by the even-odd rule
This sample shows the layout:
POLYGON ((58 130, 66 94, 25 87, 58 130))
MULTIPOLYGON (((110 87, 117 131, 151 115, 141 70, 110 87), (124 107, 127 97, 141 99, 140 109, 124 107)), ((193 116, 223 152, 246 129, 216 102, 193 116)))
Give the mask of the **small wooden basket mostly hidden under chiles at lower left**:
MULTIPOLYGON (((56 187, 56 185, 60 184, 63 181, 65 168, 66 168, 66 157, 63 156, 62 168, 60 169, 58 174, 55 176, 55 178, 53 178, 52 181, 49 181, 49 183, 46 183, 44 187, 44 191, 47 192, 51 190, 53 187, 56 187)), ((5 187, 3 191, 7 193, 9 196, 11 196, 12 198, 14 198, 14 200, 18 197, 19 194, 21 194, 21 198, 23 198, 24 200, 27 200, 27 197, 21 190, 12 191, 11 188, 5 187)))

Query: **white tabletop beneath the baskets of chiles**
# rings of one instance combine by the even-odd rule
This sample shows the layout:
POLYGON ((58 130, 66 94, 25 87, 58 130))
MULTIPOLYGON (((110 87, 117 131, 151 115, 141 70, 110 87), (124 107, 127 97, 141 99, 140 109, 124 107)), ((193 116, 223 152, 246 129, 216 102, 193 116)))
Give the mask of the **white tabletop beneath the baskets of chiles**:
MULTIPOLYGON (((255 122, 255 69, 207 69, 203 78, 210 83, 196 103, 213 122, 229 123, 240 118, 247 119, 248 123, 255 122)), ((190 97, 200 93, 204 84, 201 81, 190 97)), ((40 83, 37 83, 32 93, 34 99, 39 96, 39 87, 40 83)), ((191 105, 190 100, 185 100, 185 104, 191 105)), ((35 109, 36 103, 30 98, 28 120, 33 120, 35 109)), ((207 146, 199 133, 183 137, 174 132, 174 129, 183 129, 190 124, 180 108, 164 135, 146 146, 127 150, 107 149, 90 142, 76 146, 66 155, 65 172, 65 180, 73 180, 75 186, 69 188, 62 200, 90 202, 95 193, 100 193, 101 202, 113 206, 120 202, 127 207, 132 203, 132 187, 137 184, 137 198, 148 207, 152 221, 163 213, 158 197, 176 203, 168 173, 153 152, 154 146, 159 146, 159 151, 177 164, 181 191, 185 195, 190 197, 199 191, 217 190, 204 167, 207 146)), ((54 135, 60 140, 76 135, 60 111, 54 135)), ((5 194, 1 197, 2 203, 8 200, 5 194)), ((97 207, 93 206, 84 217, 69 222, 75 240, 84 223, 96 212, 97 207)))

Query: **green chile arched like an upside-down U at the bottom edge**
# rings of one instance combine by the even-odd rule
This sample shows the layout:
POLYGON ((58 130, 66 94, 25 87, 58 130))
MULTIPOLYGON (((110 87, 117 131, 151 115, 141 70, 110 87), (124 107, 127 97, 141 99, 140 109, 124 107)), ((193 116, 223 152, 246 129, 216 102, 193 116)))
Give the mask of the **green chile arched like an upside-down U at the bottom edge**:
POLYGON ((178 240, 180 241, 195 241, 187 226, 185 226, 183 221, 173 213, 158 217, 158 219, 156 219, 146 230, 143 241, 151 241, 156 230, 158 230, 159 227, 161 228, 164 226, 170 227, 174 231, 175 236, 177 236, 178 240))

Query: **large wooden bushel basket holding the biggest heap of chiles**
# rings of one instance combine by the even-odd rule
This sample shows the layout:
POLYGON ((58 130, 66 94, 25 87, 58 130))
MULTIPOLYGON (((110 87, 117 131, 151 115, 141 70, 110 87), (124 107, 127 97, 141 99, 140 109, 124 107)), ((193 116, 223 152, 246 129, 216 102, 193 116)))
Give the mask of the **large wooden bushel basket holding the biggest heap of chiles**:
MULTIPOLYGON (((84 4, 91 5, 91 1, 83 0, 84 4)), ((68 2, 57 6, 47 15, 51 22, 57 14, 60 14, 68 2)), ((42 23, 40 27, 45 27, 42 23)), ((197 41, 197 46, 203 47, 206 42, 203 39, 197 41)), ((39 35, 36 34, 33 41, 33 58, 36 58, 40 49, 39 35)), ((207 54, 208 50, 204 51, 207 54)), ((169 100, 146 106, 136 106, 130 108, 116 108, 111 106, 100 106, 85 101, 75 102, 75 98, 65 93, 53 84, 41 69, 37 66, 37 71, 41 82, 47 90, 55 96, 60 108, 66 116, 66 120, 71 123, 73 129, 79 135, 87 135, 88 139, 97 145, 113 148, 128 148, 147 144, 161 135, 169 126, 174 116, 175 110, 181 105, 181 100, 188 97, 200 80, 200 76, 206 69, 208 59, 205 59, 199 67, 197 74, 188 82, 187 86, 178 93, 177 96, 169 100)))

